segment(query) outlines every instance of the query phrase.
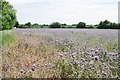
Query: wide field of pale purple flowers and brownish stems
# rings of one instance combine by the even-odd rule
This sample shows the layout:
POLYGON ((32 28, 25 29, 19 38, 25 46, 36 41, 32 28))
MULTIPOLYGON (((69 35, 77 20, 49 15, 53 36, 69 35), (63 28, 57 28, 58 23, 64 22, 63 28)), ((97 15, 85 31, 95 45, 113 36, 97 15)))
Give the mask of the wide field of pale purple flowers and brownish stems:
POLYGON ((13 29, 3 78, 117 78, 118 30, 13 29))

